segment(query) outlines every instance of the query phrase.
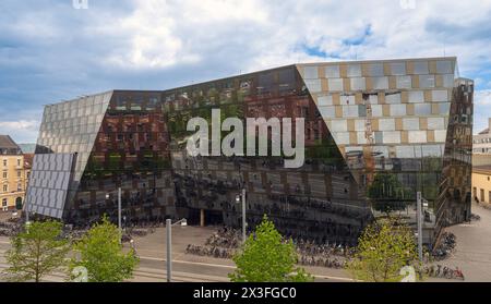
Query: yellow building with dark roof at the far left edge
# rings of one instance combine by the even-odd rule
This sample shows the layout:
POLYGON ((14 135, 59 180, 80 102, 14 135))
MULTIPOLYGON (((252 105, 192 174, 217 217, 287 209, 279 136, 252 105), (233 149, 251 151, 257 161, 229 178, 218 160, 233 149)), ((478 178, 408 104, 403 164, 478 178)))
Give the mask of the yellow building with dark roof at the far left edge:
POLYGON ((28 174, 21 148, 9 135, 0 135, 0 210, 22 206, 28 174))

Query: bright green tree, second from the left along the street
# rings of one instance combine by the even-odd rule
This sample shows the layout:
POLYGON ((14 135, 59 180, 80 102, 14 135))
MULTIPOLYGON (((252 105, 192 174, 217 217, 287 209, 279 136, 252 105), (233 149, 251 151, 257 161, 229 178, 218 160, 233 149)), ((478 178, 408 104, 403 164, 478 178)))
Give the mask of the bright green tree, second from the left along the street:
POLYGON ((133 250, 123 252, 121 233, 107 217, 93 226, 75 245, 69 271, 83 266, 89 282, 121 282, 133 277, 139 258, 133 250))

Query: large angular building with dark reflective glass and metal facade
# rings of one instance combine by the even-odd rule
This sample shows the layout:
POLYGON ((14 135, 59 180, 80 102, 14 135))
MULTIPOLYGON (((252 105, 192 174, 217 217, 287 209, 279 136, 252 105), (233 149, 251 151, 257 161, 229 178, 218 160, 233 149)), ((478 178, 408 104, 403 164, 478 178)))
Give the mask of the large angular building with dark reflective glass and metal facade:
MULTIPOLYGON (((167 90, 111 90, 46 106, 36 154, 76 154, 56 216, 68 222, 116 217, 121 187, 125 221, 239 226, 235 202, 244 187, 250 228, 267 214, 283 233, 354 243, 374 216, 393 212, 415 224, 420 191, 432 243, 442 227, 470 217, 474 84, 457 71, 456 58, 330 62, 167 90), (190 157, 188 121, 209 122, 217 108, 223 119, 303 118, 304 165, 190 157)), ((52 216, 36 179, 56 178, 34 167, 29 209, 52 216)))

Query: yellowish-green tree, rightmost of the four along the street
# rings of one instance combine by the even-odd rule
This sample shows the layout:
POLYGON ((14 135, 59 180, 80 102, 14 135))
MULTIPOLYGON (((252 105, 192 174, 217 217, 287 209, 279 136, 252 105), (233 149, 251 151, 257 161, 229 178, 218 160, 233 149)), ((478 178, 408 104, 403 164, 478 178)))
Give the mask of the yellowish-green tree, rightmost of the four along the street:
POLYGON ((355 279, 370 282, 400 281, 400 269, 420 269, 412 230, 394 218, 368 226, 347 268, 355 279))

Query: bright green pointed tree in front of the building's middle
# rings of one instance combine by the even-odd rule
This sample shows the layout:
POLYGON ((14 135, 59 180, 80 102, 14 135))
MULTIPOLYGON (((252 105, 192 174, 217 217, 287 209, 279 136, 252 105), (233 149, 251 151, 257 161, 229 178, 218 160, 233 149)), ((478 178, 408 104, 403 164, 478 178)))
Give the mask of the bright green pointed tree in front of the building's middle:
POLYGON ((286 241, 274 223, 264 216, 249 235, 242 251, 233 256, 237 270, 229 275, 232 282, 307 282, 313 278, 303 268, 296 268, 298 255, 294 243, 286 241))

